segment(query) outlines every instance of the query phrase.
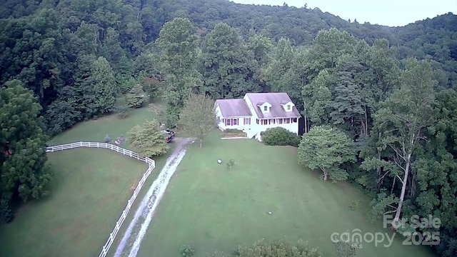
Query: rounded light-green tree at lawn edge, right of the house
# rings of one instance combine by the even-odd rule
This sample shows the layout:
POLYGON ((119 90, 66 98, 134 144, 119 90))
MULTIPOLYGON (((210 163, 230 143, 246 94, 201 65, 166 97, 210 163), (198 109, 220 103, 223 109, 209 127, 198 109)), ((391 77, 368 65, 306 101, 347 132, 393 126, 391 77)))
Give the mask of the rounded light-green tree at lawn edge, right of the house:
POLYGON ((340 165, 355 161, 353 142, 338 129, 328 126, 315 126, 303 134, 298 146, 298 163, 323 172, 323 180, 346 180, 348 173, 340 165))

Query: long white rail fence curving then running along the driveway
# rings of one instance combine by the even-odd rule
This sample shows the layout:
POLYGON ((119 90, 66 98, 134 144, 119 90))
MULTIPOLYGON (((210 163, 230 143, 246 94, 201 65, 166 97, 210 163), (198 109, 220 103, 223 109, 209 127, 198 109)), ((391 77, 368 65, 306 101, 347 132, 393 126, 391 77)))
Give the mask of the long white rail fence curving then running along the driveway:
POLYGON ((113 231, 109 234, 109 238, 106 241, 105 245, 103 248, 101 248, 101 253, 99 254, 99 257, 105 257, 106 254, 108 254, 109 248, 114 242, 114 238, 116 238, 117 233, 119 232, 119 229, 122 226, 122 223, 124 223, 126 216, 129 214, 131 206, 134 204, 134 201, 136 199, 136 196, 138 196, 139 192, 141 191, 141 188, 144 185, 144 182, 146 182, 146 179, 149 177, 151 174, 152 170, 156 167, 156 162, 148 157, 143 157, 139 156, 137 153, 134 153, 133 151, 121 148, 119 146, 115 146, 111 143, 98 143, 98 142, 76 142, 76 143, 66 143, 63 145, 59 146, 49 146, 46 147, 46 153, 49 152, 54 152, 54 151, 62 151, 62 150, 67 150, 67 149, 73 149, 73 148, 78 148, 78 147, 91 147, 91 148, 106 148, 111 151, 116 151, 118 153, 122 153, 126 156, 129 156, 131 158, 136 158, 139 161, 144 161, 145 163, 148 164, 148 169, 144 172, 143 176, 141 177, 138 185, 135 188, 134 194, 131 196, 129 201, 127 202, 126 208, 124 208, 124 211, 122 211, 121 216, 119 217, 119 220, 116 222, 116 226, 114 226, 113 231))

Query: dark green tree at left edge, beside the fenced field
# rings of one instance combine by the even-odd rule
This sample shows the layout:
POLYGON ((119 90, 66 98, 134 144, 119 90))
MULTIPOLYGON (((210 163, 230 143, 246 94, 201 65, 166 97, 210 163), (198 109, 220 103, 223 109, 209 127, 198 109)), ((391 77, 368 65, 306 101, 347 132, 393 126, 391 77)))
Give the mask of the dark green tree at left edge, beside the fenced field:
POLYGON ((0 200, 6 218, 15 194, 25 202, 49 193, 48 138, 40 112, 33 92, 24 89, 21 81, 9 81, 0 87, 0 200))

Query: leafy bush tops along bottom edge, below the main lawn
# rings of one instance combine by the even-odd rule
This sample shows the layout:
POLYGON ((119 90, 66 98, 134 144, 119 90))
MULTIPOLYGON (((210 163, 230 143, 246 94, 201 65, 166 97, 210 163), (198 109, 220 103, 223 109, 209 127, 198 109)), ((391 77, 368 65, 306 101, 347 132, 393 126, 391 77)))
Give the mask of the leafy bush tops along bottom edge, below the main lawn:
POLYGON ((238 248, 239 257, 321 257, 321 252, 316 248, 309 248, 307 242, 298 241, 291 244, 285 241, 274 241, 265 243, 263 239, 254 243, 251 247, 240 246, 238 248))

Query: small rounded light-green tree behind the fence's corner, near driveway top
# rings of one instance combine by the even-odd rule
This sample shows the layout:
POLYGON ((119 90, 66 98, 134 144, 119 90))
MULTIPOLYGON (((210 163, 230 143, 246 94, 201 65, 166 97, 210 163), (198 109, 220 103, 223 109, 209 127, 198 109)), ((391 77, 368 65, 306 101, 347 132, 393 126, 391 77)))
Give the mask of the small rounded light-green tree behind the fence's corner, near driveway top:
POLYGON ((169 150, 166 143, 166 134, 161 131, 156 120, 146 121, 143 125, 136 125, 127 134, 131 150, 141 156, 159 156, 169 150))

